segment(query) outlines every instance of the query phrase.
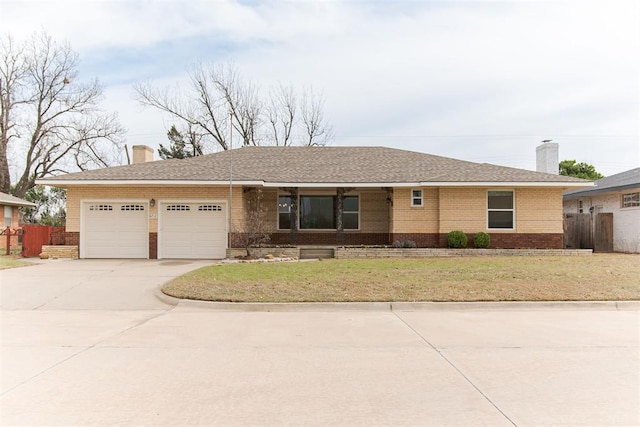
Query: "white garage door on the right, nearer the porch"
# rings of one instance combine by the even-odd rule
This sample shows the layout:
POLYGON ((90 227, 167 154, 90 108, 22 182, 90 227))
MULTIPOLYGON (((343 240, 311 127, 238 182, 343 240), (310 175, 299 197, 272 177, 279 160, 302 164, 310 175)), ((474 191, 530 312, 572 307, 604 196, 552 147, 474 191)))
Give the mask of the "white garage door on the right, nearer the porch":
POLYGON ((227 248, 224 207, 214 202, 161 203, 158 258, 224 258, 227 248))

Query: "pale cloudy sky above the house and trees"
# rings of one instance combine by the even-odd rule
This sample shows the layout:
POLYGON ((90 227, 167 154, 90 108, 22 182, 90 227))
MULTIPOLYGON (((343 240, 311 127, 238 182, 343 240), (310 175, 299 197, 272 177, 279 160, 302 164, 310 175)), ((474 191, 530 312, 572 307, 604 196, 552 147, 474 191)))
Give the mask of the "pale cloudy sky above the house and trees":
POLYGON ((384 145, 535 169, 543 139, 605 175, 640 164, 640 2, 0 0, 0 32, 46 30, 105 87, 127 144, 173 123, 132 84, 233 61, 264 86, 313 86, 333 145, 384 145))

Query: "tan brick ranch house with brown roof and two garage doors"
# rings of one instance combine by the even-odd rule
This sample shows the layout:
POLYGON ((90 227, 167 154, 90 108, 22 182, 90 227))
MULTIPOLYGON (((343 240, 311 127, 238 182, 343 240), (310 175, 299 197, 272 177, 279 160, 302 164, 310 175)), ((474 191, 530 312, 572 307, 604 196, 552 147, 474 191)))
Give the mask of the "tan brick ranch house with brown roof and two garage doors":
POLYGON ((148 162, 148 147, 136 146, 141 160, 38 181, 67 189, 66 240, 81 258, 224 258, 251 231, 246 207, 258 190, 272 244, 445 247, 462 230, 488 232, 496 248, 562 248, 562 192, 591 185, 384 147, 245 147, 148 162))

